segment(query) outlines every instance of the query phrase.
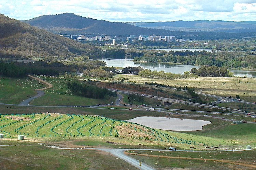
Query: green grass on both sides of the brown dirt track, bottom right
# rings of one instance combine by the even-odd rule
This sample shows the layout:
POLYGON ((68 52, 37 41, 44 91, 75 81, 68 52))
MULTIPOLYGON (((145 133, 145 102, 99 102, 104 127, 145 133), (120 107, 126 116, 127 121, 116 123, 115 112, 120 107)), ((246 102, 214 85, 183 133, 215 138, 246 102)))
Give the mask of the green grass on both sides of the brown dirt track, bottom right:
POLYGON ((230 152, 173 152, 173 151, 129 151, 127 153, 138 153, 143 155, 129 154, 130 157, 150 165, 154 168, 189 168, 189 169, 254 169, 242 165, 222 163, 214 160, 234 161, 248 165, 254 165, 256 155, 255 150, 250 151, 230 151, 230 152), (148 155, 148 156, 147 156, 148 155), (150 155, 155 155, 151 157, 150 155), (158 157, 156 157, 158 156, 158 157), (167 156, 167 157, 161 157, 167 156), (176 158, 172 158, 176 157, 176 158), (186 159, 187 158, 187 159, 186 159), (194 158, 194 159, 188 159, 194 158), (197 158, 201 160, 196 160, 197 158), (212 159, 204 160, 204 159, 212 159))

